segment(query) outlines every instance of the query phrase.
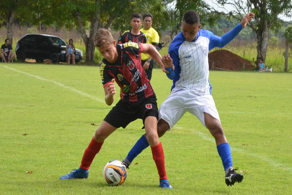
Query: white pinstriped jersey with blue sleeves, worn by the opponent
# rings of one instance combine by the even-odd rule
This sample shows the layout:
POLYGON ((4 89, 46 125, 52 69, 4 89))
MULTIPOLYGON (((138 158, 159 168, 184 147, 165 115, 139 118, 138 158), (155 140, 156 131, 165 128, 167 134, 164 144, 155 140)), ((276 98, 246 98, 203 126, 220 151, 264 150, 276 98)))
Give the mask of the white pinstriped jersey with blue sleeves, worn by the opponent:
POLYGON ((209 95, 209 63, 208 53, 214 47, 224 47, 243 29, 239 23, 222 37, 212 32, 200 29, 197 38, 186 41, 182 32, 176 35, 169 45, 169 55, 173 60, 175 70, 168 73, 173 80, 171 93, 178 90, 192 90, 197 95, 209 95), (174 72, 174 73, 173 73, 174 72))

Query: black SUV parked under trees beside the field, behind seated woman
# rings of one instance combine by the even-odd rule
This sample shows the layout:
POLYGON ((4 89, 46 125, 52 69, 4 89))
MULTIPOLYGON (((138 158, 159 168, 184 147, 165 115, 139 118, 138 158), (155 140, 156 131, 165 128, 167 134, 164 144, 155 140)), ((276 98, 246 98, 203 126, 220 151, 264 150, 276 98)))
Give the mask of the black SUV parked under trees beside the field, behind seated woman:
MULTIPOLYGON (((26 34, 16 43, 16 58, 22 62, 26 58, 36 59, 36 62, 43 62, 44 59, 50 59, 55 64, 67 62, 66 46, 65 41, 57 36, 26 34)), ((82 51, 76 49, 75 62, 82 61, 82 57, 82 51)))

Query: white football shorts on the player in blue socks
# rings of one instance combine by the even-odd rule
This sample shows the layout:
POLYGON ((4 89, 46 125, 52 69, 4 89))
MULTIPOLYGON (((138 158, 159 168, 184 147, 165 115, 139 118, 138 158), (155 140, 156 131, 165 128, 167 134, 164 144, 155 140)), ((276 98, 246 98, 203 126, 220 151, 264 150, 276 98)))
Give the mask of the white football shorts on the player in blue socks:
POLYGON ((169 95, 159 108, 158 120, 168 122, 170 130, 186 112, 195 115, 204 126, 204 112, 220 121, 212 95, 198 96, 191 90, 181 90, 169 95))

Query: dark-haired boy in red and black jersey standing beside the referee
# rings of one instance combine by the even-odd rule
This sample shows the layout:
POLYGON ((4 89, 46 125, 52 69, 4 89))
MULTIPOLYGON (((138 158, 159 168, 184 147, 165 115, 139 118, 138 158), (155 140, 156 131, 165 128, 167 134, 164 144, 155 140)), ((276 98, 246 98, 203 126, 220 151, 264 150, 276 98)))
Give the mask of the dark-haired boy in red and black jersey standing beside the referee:
POLYGON ((146 43, 146 35, 140 31, 142 25, 141 22, 142 16, 139 13, 133 13, 131 16, 130 24, 132 25, 132 30, 127 30, 121 37, 119 44, 127 42, 135 43, 146 43))

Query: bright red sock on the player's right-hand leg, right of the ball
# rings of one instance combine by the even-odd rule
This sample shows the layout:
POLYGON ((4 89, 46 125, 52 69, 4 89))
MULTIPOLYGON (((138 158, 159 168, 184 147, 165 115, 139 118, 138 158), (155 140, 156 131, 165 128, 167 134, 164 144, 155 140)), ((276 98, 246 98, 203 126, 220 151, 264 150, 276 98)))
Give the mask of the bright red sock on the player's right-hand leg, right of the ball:
POLYGON ((153 160, 155 161, 159 179, 167 179, 165 170, 164 153, 161 142, 156 146, 151 147, 153 160))

